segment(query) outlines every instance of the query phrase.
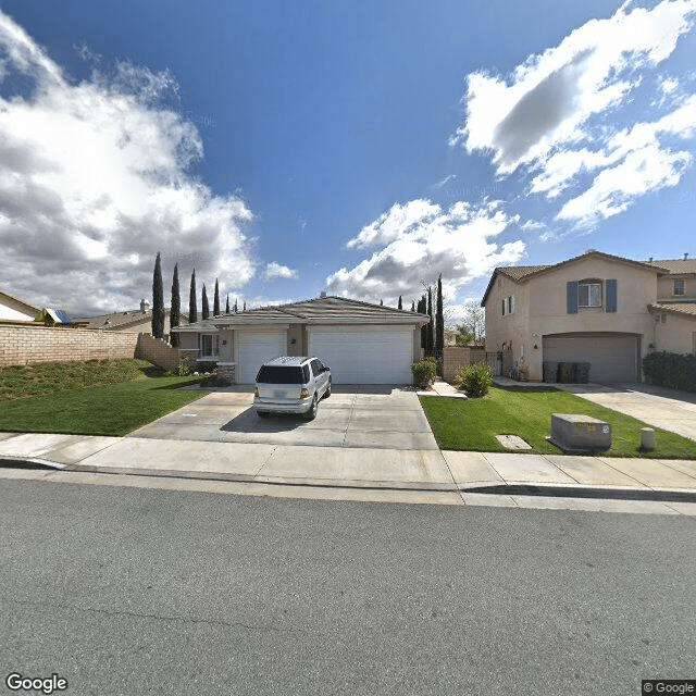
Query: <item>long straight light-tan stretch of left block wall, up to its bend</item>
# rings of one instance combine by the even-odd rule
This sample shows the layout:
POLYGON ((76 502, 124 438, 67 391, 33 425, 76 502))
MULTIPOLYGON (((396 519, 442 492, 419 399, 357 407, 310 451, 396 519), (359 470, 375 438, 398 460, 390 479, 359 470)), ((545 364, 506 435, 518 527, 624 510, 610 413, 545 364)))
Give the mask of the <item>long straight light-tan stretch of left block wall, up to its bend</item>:
POLYGON ((0 365, 133 358, 137 340, 112 331, 0 325, 0 365))

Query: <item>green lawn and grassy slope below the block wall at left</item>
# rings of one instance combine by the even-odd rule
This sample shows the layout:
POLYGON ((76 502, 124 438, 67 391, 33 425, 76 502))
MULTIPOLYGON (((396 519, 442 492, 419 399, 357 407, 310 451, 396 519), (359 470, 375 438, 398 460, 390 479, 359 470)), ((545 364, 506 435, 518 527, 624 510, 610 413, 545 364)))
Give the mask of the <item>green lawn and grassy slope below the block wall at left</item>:
POLYGON ((200 398, 144 360, 0 369, 0 431, 125 435, 200 398), (92 386, 99 384, 100 386, 92 386))

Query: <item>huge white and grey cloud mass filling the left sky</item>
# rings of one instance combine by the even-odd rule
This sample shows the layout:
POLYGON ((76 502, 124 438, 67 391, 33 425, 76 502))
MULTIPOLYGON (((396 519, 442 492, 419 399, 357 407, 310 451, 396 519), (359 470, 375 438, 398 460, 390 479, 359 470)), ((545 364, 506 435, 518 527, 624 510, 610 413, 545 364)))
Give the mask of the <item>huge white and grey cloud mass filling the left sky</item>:
POLYGON ((244 233, 252 214, 239 198, 215 196, 187 173, 202 141, 164 104, 176 100, 169 72, 119 63, 71 84, 1 12, 0 48, 5 74, 33 80, 29 95, 7 94, 0 84, 8 289, 76 313, 133 307, 150 291, 158 251, 166 288, 178 262, 184 303, 192 268, 199 285, 219 276, 221 290, 252 276, 244 233))

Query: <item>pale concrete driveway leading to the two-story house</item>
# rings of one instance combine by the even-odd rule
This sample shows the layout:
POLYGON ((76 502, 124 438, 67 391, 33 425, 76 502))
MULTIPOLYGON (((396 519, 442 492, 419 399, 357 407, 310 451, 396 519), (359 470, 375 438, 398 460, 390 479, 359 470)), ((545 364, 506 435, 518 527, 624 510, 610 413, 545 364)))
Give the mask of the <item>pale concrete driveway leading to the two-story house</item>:
POLYGON ((557 387, 696 440, 696 394, 648 384, 557 384, 557 387))

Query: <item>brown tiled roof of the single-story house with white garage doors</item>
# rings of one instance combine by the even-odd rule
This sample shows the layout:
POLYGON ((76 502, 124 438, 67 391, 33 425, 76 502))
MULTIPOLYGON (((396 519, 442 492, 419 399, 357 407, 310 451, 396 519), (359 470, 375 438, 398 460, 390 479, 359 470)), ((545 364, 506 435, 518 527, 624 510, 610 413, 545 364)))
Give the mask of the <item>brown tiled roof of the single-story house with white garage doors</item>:
POLYGON ((204 332, 215 327, 263 324, 424 324, 428 321, 426 314, 410 310, 330 296, 221 314, 174 331, 204 332))

